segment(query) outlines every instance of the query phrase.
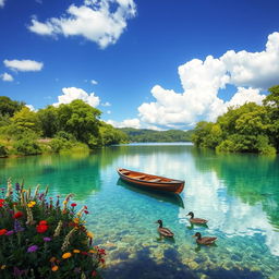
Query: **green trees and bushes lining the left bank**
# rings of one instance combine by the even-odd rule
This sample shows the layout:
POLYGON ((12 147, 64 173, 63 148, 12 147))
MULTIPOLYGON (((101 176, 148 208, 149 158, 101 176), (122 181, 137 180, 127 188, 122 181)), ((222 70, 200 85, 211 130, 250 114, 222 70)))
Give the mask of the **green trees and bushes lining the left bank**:
POLYGON ((126 143, 128 136, 100 121, 101 111, 83 100, 32 111, 0 96, 0 157, 84 151, 126 143))

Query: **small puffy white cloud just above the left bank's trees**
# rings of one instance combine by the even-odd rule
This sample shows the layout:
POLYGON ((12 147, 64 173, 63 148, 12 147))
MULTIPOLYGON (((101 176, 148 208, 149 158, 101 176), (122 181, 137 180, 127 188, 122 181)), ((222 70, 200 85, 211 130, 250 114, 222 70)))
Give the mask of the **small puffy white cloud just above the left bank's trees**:
POLYGON ((64 87, 62 92, 63 95, 58 96, 58 102, 54 102, 53 106, 58 107, 61 104, 70 104, 76 99, 81 99, 94 108, 100 104, 99 97, 95 96, 94 93, 86 93, 82 88, 64 87))

